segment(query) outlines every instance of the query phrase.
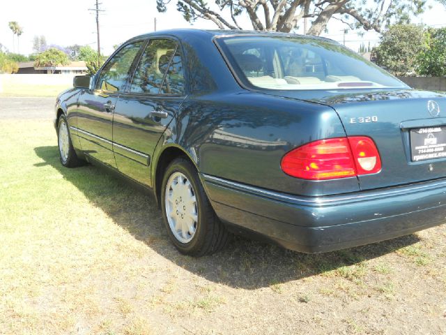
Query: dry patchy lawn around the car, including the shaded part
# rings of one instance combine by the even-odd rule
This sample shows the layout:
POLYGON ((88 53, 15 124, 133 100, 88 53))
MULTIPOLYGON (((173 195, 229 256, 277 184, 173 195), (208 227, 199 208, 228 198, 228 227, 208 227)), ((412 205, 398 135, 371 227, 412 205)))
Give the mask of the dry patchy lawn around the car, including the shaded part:
POLYGON ((179 255, 148 195, 0 120, 0 334, 446 334, 446 225, 324 255, 179 255))

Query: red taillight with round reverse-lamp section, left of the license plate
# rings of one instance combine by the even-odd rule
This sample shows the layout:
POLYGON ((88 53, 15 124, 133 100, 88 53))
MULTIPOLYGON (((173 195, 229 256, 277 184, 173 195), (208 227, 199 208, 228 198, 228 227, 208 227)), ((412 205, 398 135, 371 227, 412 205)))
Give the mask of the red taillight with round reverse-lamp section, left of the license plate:
POLYGON ((289 151, 280 163, 292 177, 311 180, 355 177, 381 170, 378 149, 364 136, 318 140, 289 151))

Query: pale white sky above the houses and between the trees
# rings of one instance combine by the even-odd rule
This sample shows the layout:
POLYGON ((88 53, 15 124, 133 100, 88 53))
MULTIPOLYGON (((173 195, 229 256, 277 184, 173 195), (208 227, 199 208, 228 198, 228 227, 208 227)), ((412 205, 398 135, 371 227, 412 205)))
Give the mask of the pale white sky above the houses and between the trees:
MULTIPOLYGON (((446 27, 446 8, 440 3, 429 0, 429 7, 413 22, 429 24, 434 27, 446 27)), ((208 0, 209 3, 213 0, 208 0)), ((215 29, 213 22, 197 20, 193 25, 186 22, 176 10, 176 1, 171 0, 167 13, 158 13, 155 0, 100 0, 100 43, 102 54, 111 54, 113 46, 121 44, 133 36, 154 30, 154 18, 157 30, 174 28, 215 29)), ((96 23, 93 10, 95 0, 15 0, 3 1, 0 12, 0 43, 10 52, 17 52, 17 37, 13 46, 13 33, 8 22, 17 21, 24 33, 20 36, 20 53, 33 52, 33 37, 45 36, 48 44, 96 45, 96 23)), ((249 20, 239 20, 244 29, 252 29, 249 20)), ((341 43, 344 41, 346 25, 338 20, 330 20, 328 33, 321 34, 341 43)), ((302 34, 302 27, 298 33, 302 34)), ((357 31, 348 31, 345 36, 346 46, 357 51, 361 43, 371 46, 378 43, 379 35, 367 32, 364 36, 357 31)))

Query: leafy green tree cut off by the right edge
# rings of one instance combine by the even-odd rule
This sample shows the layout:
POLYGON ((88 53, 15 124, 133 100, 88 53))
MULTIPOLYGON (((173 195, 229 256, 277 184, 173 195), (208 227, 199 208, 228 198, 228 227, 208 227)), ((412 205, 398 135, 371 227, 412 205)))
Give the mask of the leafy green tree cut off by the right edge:
POLYGON ((425 33, 425 49, 418 54, 418 73, 446 76, 446 28, 429 28, 425 33))

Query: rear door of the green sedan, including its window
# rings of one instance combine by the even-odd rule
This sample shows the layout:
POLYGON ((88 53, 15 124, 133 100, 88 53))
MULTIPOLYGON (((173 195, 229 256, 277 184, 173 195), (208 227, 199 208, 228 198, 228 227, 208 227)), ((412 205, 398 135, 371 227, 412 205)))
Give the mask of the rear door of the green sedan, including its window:
POLYGON ((120 94, 113 121, 118 170, 151 185, 151 156, 185 98, 180 45, 169 38, 148 41, 132 81, 120 94))

